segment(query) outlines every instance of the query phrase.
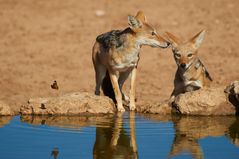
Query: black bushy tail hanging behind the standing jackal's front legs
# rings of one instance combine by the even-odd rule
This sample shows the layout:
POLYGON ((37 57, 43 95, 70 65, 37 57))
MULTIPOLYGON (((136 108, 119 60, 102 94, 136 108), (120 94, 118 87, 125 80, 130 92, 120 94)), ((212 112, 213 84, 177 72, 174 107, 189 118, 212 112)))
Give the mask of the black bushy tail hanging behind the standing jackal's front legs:
POLYGON ((106 75, 102 81, 101 88, 103 90, 104 95, 108 96, 114 101, 114 103, 116 103, 115 93, 114 93, 114 89, 113 89, 108 71, 106 71, 106 75))

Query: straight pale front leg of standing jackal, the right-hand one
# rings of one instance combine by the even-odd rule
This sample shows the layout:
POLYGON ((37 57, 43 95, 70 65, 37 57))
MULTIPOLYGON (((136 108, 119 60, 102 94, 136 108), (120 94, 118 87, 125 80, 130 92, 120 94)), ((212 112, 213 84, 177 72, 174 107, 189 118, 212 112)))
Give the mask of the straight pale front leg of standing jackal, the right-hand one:
POLYGON ((137 68, 134 67, 131 73, 131 83, 130 83, 130 103, 129 109, 135 110, 135 87, 136 87, 136 72, 137 68))

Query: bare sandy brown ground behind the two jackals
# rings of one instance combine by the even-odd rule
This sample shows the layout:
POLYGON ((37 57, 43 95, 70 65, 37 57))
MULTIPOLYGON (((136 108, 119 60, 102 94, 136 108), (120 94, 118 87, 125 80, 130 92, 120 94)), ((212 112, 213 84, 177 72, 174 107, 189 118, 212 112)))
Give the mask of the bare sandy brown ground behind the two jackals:
MULTIPOLYGON (((18 110, 30 97, 93 93, 95 37, 127 27, 127 15, 138 10, 160 34, 187 39, 206 29, 200 57, 214 85, 226 85, 239 79, 238 8, 237 0, 0 0, 0 100, 18 110), (50 87, 54 80, 59 91, 50 87)), ((170 96, 176 71, 170 49, 143 47, 138 70, 138 102, 170 96)))

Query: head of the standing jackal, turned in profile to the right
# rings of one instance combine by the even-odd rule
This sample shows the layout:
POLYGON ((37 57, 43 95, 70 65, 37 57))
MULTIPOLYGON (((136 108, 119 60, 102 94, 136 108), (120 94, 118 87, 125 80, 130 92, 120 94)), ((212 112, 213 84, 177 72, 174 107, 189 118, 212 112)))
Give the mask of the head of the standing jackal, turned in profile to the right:
POLYGON ((136 16, 128 16, 128 23, 131 30, 136 35, 137 43, 141 45, 149 45, 151 47, 167 48, 169 43, 159 36, 155 30, 146 20, 142 11, 139 11, 136 16))

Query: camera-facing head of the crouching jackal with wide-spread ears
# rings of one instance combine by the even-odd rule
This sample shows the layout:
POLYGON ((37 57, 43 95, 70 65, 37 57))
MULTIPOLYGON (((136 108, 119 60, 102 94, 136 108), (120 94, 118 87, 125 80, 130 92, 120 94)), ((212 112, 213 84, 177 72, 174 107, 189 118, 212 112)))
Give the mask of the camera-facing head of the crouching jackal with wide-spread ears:
POLYGON ((182 41, 169 32, 166 32, 166 34, 172 46, 176 64, 180 69, 186 70, 198 59, 197 50, 204 39, 205 30, 200 31, 188 41, 182 41))

